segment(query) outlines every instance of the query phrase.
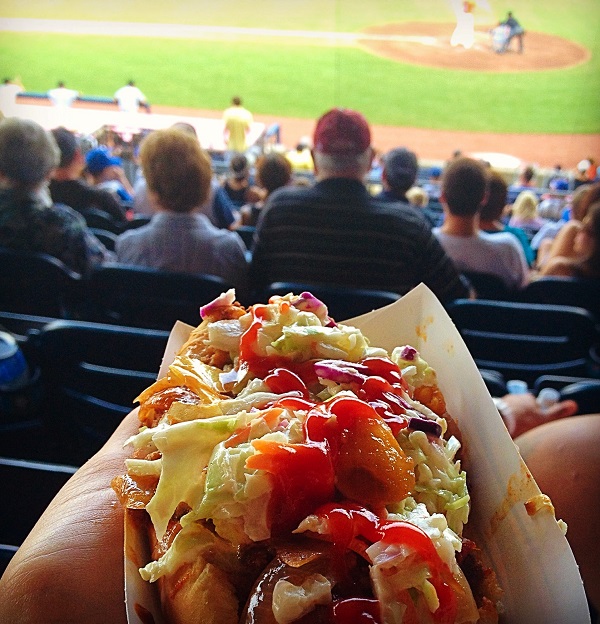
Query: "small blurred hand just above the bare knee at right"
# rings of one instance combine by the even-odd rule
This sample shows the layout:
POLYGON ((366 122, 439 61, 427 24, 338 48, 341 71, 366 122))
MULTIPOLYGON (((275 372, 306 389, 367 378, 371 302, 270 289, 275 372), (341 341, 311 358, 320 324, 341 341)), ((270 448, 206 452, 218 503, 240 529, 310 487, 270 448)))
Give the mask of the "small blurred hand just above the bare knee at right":
POLYGON ((567 418, 577 413, 575 401, 559 401, 545 410, 533 394, 507 394, 502 397, 499 410, 512 438, 544 423, 567 418))

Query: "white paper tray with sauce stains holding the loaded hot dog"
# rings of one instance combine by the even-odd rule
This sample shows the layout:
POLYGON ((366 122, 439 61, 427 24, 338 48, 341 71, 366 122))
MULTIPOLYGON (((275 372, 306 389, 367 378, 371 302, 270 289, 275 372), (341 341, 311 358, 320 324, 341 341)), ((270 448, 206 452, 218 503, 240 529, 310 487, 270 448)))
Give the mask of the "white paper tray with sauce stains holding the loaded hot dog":
MULTIPOLYGON (((525 503, 540 490, 522 461, 500 418, 477 367, 450 317, 424 285, 398 302, 348 322, 359 327, 371 345, 388 351, 414 346, 436 370, 448 412, 463 441, 463 465, 471 493, 471 530, 496 571, 504 590, 510 624, 566 624, 590 621, 579 570, 554 516, 541 511, 529 516, 525 503)), ((166 373, 177 347, 190 327, 173 329, 159 376, 166 373)), ((156 624, 153 587, 144 583, 137 567, 144 555, 126 522, 125 572, 129 622, 156 624), (135 556, 134 556, 135 555, 135 556), (142 614, 140 616, 140 614, 142 614)), ((218 606, 216 607, 218 608, 218 606)))

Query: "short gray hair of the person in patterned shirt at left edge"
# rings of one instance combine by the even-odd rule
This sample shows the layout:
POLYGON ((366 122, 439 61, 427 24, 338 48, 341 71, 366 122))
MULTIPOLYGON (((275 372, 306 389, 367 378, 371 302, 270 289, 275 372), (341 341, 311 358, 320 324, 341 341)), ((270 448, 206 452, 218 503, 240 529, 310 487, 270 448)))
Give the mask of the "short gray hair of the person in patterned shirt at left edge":
POLYGON ((59 162, 54 137, 38 123, 17 117, 0 122, 0 173, 11 186, 33 190, 59 162))

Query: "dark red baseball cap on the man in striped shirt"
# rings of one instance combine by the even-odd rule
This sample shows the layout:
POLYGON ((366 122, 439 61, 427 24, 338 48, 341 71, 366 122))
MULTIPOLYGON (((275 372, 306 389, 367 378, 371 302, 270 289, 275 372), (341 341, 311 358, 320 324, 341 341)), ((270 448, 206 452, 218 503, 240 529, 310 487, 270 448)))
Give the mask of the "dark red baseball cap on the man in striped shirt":
POLYGON ((333 108, 317 121, 313 145, 316 151, 332 156, 362 154, 371 145, 371 130, 357 111, 333 108))

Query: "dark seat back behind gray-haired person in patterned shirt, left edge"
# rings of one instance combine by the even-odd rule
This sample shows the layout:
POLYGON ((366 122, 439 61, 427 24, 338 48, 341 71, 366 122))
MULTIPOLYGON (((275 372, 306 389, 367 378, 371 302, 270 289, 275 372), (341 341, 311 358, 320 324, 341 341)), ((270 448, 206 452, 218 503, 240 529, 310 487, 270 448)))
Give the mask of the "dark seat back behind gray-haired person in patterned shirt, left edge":
POLYGON ((0 309, 64 318, 71 314, 81 276, 43 253, 0 248, 0 309))

